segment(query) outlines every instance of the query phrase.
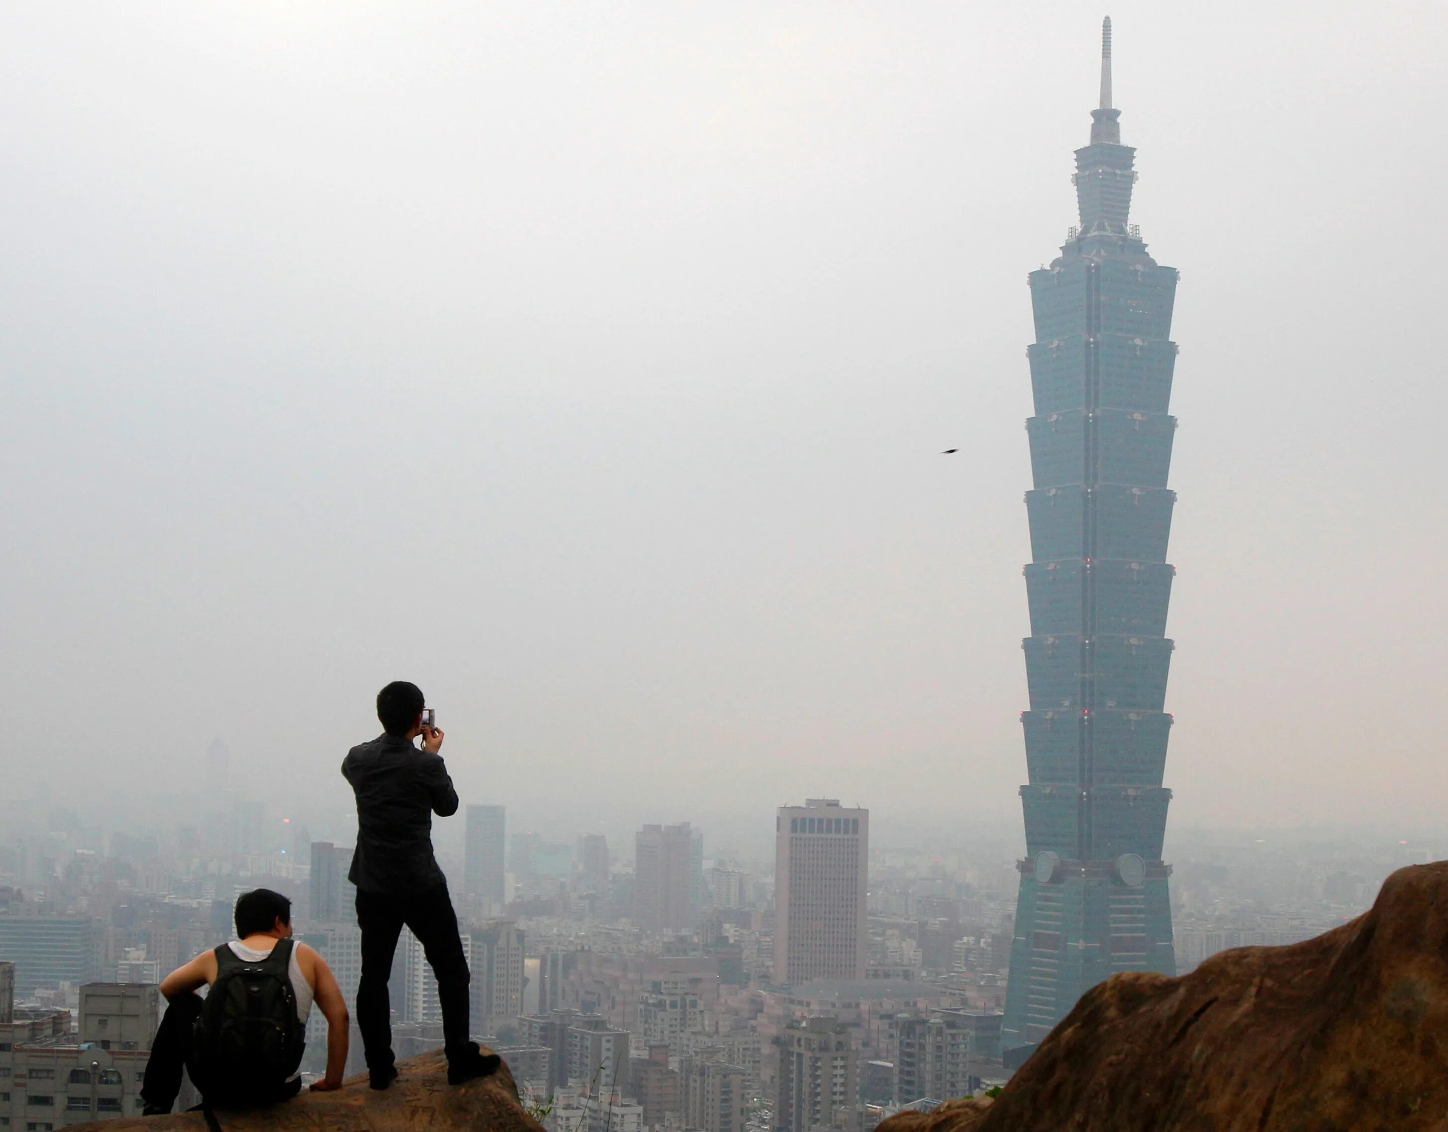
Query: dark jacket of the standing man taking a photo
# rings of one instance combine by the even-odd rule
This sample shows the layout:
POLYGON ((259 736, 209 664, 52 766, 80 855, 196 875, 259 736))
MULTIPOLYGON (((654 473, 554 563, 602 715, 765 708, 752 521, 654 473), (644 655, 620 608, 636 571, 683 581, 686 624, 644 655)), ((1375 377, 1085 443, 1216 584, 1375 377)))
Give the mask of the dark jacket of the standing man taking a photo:
POLYGON ((416 896, 443 884, 433 857, 433 814, 458 812, 443 757, 384 734, 348 751, 342 776, 358 798, 358 847, 348 880, 359 892, 384 896, 416 896))

